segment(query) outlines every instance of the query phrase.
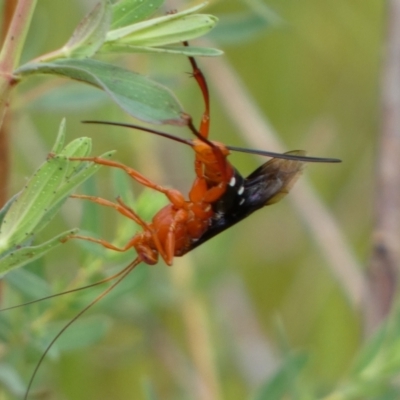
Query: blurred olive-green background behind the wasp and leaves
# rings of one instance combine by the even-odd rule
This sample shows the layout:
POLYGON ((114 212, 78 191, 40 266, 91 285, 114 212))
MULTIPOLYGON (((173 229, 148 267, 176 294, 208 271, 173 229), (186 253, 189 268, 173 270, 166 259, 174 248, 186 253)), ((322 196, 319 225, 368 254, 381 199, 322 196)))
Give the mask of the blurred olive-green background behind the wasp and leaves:
MULTIPOLYGON (((64 43, 94 3, 39 1, 26 60, 64 43)), ((164 11, 184 4, 166 0, 164 11)), ((375 0, 215 1, 205 12, 218 16, 220 26, 208 38, 225 54, 223 60, 198 60, 211 89, 212 140, 249 146, 212 84, 213 63, 224 62, 279 132, 285 150, 343 160, 310 165, 304 175, 360 268, 370 252, 384 11, 384 2, 375 0), (263 14, 266 6, 280 23, 263 14)), ((135 55, 119 63, 171 88, 199 119, 203 103, 187 59, 135 55)), ((95 89, 35 78, 18 88, 12 106, 10 194, 43 162, 63 117, 71 140, 92 137, 93 154, 116 149, 118 160, 160 184, 185 193, 191 185, 189 148, 144 132, 82 125, 83 119, 129 120, 95 89)), ((235 113, 246 120, 244 110, 235 113)), ((190 137, 184 128, 161 128, 190 137)), ((231 159, 244 175, 260 164, 250 155, 231 159)), ((133 193, 135 209, 151 218, 163 199, 141 190, 103 168, 80 192, 108 199, 133 193)), ((40 367, 30 398, 317 399, 334 392, 360 351, 362 316, 290 197, 177 259, 172 268, 162 262, 138 267, 67 330, 40 367), (289 367, 276 392, 262 392, 282 365, 289 367)), ((126 242, 137 230, 112 210, 77 200, 52 223, 54 231, 65 226, 114 243, 126 242)), ((105 270, 116 272, 134 257, 71 242, 25 269, 55 293, 96 281, 105 270)), ((7 280, 5 305, 24 300, 16 290, 18 273, 7 280)), ((57 327, 99 292, 89 289, 3 313, 3 329, 15 334, 0 347, 3 368, 18 372, 25 385, 57 327)), ((13 398, 6 386, 1 399, 13 398)))

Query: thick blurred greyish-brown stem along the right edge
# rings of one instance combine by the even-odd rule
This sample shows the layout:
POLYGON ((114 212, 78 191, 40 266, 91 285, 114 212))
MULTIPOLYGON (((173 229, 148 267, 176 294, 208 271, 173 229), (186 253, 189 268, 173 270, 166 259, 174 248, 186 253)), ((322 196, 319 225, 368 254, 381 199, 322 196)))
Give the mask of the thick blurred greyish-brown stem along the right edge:
POLYGON ((371 300, 367 324, 370 329, 391 309, 400 265, 400 0, 388 2, 387 24, 375 229, 369 265, 371 300))

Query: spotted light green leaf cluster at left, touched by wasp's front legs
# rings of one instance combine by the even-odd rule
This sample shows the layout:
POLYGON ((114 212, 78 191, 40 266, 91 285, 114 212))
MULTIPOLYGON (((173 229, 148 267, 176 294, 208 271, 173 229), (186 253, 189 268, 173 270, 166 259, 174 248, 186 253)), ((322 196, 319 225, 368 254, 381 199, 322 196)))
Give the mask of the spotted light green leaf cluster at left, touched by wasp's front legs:
MULTIPOLYGON (((90 139, 76 139, 60 151, 64 137, 65 121, 60 125, 53 146, 53 150, 59 154, 50 157, 35 172, 3 217, 0 230, 1 274, 36 260, 76 232, 63 232, 35 246, 30 243, 32 237, 59 211, 71 191, 101 168, 101 165, 93 162, 70 160, 70 157, 86 157, 90 154, 90 139)), ((108 152, 101 157, 107 158, 112 154, 108 152)))

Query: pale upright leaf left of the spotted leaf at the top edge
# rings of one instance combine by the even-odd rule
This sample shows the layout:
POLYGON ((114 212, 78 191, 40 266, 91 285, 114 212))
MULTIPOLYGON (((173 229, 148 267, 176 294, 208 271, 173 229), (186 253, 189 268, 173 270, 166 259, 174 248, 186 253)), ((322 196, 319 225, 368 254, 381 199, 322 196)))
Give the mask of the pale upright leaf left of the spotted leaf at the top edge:
POLYGON ((110 27, 112 7, 107 0, 96 4, 94 9, 79 23, 67 44, 62 48, 66 57, 91 57, 103 44, 110 27))

